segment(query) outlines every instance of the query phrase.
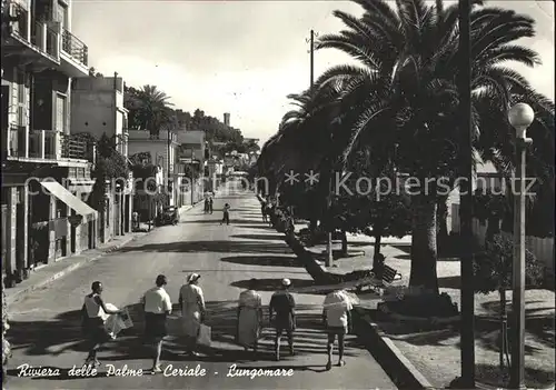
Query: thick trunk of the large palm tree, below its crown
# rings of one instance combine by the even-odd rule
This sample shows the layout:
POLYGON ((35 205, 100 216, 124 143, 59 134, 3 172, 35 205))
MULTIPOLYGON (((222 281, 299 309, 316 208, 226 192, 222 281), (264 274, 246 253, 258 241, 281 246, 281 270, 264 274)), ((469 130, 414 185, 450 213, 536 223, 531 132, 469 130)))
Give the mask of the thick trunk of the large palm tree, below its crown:
POLYGON ((438 293, 435 196, 416 194, 411 198, 411 207, 414 216, 409 286, 438 293))

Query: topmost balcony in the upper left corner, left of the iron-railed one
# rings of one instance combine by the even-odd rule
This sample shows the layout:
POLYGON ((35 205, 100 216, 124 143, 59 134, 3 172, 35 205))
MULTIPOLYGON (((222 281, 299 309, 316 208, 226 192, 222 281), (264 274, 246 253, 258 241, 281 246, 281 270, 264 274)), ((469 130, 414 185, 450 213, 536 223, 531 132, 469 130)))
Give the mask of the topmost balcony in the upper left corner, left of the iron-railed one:
POLYGON ((60 64, 60 34, 47 22, 32 20, 21 4, 8 7, 10 24, 2 39, 2 57, 14 58, 19 64, 31 66, 36 71, 60 64))

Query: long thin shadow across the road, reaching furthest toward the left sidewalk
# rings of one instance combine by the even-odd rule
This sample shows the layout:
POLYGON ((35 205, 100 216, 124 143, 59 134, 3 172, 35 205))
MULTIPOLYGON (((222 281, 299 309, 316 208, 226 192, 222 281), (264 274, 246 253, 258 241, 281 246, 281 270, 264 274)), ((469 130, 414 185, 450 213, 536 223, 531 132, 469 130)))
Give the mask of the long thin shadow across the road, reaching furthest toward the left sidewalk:
POLYGON ((286 243, 256 241, 177 241, 123 247, 116 252, 216 252, 216 253, 284 253, 291 254, 286 243))

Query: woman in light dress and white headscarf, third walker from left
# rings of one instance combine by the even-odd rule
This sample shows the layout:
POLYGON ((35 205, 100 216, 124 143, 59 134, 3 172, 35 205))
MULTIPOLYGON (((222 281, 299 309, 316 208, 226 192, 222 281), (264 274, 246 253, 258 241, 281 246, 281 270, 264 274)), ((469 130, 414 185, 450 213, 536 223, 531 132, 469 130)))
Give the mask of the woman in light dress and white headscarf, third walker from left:
POLYGON ((198 356, 195 351, 200 324, 205 319, 205 297, 198 286, 200 274, 191 273, 179 291, 179 306, 181 307, 182 326, 186 336, 186 353, 198 356))

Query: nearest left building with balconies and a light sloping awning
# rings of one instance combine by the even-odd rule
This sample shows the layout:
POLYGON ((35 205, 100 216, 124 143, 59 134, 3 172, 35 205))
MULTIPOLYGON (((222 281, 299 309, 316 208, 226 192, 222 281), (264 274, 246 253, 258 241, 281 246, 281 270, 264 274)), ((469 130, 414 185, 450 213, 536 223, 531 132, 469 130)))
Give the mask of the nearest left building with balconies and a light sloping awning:
POLYGON ((71 1, 8 1, 2 13, 2 273, 13 286, 95 248, 98 213, 86 202, 93 146, 70 131, 72 79, 88 74, 71 1))

